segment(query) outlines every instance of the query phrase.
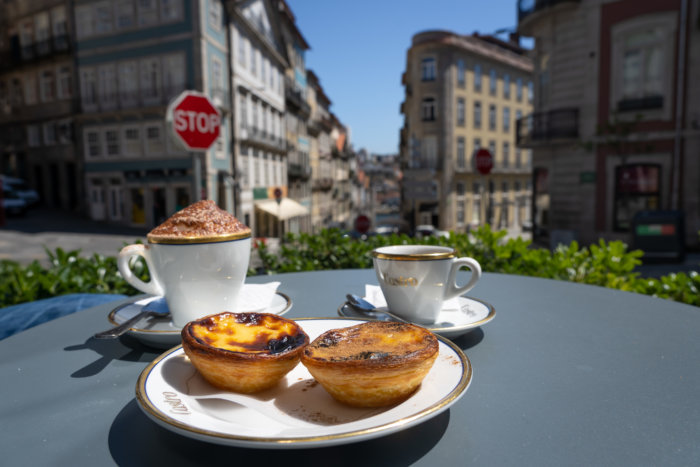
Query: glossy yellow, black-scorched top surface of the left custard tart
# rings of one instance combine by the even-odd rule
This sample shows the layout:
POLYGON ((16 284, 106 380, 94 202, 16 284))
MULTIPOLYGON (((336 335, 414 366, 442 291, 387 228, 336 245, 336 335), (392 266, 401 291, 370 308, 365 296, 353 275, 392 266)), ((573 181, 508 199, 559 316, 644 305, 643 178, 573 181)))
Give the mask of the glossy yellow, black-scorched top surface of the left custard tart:
POLYGON ((309 342, 297 323, 269 313, 207 316, 188 323, 182 337, 200 348, 261 356, 285 353, 309 342))

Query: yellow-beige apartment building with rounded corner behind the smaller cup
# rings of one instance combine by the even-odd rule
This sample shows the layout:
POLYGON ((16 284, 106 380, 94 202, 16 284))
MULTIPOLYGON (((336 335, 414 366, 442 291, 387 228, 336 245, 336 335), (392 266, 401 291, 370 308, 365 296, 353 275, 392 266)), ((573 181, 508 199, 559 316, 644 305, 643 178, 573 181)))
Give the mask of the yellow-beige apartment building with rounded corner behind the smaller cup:
POLYGON ((515 122, 532 108, 532 62, 517 41, 426 31, 413 36, 402 76, 402 216, 412 225, 519 232, 530 219, 531 161, 515 122), (474 153, 488 148, 481 175, 474 153))

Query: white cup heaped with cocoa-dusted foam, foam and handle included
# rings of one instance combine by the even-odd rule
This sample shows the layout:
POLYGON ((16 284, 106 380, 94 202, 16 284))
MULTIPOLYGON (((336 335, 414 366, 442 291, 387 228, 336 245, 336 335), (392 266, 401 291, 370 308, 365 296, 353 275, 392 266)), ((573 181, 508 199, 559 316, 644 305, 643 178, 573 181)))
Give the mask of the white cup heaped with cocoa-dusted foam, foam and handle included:
POLYGON ((124 247, 117 266, 124 280, 147 294, 165 297, 172 322, 236 311, 250 261, 251 231, 212 201, 179 211, 147 236, 148 244, 124 247), (129 267, 141 257, 150 280, 129 267))

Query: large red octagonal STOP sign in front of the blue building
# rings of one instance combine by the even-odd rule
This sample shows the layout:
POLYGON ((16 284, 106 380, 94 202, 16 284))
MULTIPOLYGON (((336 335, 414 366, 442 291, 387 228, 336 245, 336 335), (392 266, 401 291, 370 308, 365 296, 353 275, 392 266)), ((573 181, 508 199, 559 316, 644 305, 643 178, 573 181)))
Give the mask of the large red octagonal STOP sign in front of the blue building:
POLYGON ((175 137, 191 151, 206 151, 221 131, 221 114, 204 94, 185 91, 168 106, 175 137))

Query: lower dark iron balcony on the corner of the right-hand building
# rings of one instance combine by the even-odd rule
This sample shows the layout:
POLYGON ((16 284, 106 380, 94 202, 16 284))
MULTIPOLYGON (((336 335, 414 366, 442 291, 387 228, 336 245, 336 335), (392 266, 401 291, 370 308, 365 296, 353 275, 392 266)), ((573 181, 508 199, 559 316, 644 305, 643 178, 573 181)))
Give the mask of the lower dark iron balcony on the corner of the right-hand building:
POLYGON ((578 138, 578 109, 530 114, 516 122, 516 144, 530 148, 578 138))

